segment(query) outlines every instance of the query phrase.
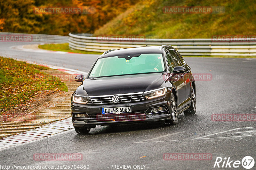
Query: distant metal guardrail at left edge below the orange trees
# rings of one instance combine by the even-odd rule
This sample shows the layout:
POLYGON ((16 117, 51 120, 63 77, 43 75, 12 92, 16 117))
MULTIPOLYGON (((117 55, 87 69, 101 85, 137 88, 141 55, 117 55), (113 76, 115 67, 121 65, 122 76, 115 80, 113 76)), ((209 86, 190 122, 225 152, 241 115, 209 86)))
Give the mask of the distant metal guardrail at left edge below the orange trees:
POLYGON ((68 36, 0 32, 0 42, 26 41, 45 43, 67 43, 68 36))

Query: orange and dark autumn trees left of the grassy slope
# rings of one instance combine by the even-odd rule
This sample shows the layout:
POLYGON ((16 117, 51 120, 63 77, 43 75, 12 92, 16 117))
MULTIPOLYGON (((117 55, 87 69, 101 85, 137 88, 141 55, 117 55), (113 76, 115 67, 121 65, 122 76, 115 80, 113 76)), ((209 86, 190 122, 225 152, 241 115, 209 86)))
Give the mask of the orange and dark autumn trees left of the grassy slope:
POLYGON ((137 3, 135 0, 0 0, 0 31, 68 35, 93 33, 137 3), (35 7, 82 7, 92 14, 36 13, 35 7))

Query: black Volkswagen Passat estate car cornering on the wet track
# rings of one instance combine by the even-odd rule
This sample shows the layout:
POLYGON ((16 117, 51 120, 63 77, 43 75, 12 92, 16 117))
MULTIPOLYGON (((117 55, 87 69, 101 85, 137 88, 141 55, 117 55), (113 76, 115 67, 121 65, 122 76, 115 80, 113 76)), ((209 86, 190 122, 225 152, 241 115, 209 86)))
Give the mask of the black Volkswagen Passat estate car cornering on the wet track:
POLYGON ((177 115, 195 114, 196 84, 190 67, 170 45, 108 50, 71 99, 77 133, 96 125, 163 121, 176 124, 177 115))

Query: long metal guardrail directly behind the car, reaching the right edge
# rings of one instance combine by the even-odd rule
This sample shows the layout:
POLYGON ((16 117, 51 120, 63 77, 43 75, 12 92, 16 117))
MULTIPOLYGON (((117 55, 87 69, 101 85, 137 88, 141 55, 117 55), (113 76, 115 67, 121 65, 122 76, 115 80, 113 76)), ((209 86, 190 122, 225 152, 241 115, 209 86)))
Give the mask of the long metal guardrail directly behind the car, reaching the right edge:
POLYGON ((91 34, 69 33, 69 47, 76 50, 104 52, 147 45, 169 44, 177 48, 181 55, 206 56, 256 56, 255 39, 246 41, 213 41, 212 39, 125 39, 91 37, 91 34))

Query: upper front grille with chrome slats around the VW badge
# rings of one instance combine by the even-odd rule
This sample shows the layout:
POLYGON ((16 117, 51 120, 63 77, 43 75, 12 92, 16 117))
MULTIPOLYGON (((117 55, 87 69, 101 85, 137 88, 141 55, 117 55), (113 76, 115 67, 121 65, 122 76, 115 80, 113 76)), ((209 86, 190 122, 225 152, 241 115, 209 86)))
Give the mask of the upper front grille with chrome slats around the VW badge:
MULTIPOLYGON (((93 96, 90 97, 91 100, 88 101, 87 104, 114 104, 112 101, 112 97, 115 95, 109 95, 109 96, 93 96)), ((120 100, 118 103, 130 103, 130 102, 139 102, 143 100, 147 100, 146 97, 142 96, 142 93, 136 93, 136 94, 128 94, 128 95, 117 95, 119 96, 120 100)))

